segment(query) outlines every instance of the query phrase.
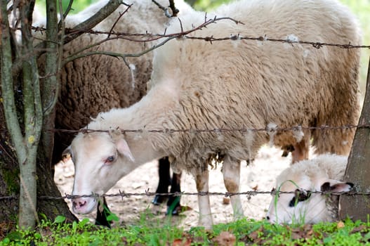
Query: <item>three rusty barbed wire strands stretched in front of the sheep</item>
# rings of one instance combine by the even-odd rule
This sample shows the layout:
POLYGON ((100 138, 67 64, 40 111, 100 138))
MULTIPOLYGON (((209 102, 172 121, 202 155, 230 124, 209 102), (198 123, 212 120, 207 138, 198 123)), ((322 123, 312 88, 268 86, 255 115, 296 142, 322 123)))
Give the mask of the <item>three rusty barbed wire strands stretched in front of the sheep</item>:
MULTIPOLYGON (((121 17, 121 16, 120 16, 121 17)), ((179 22, 181 22, 180 19, 178 19, 179 22)), ((328 43, 328 42, 319 42, 319 41, 309 41, 309 40, 299 40, 297 37, 289 37, 287 36, 286 39, 279 39, 276 37, 267 37, 267 34, 263 34, 261 36, 257 37, 246 37, 243 34, 231 34, 230 37, 196 37, 196 36, 191 36, 190 34, 196 30, 201 30, 201 28, 205 28, 208 25, 211 25, 213 23, 222 21, 222 20, 230 20, 238 25, 244 25, 242 22, 239 22, 238 20, 234 20, 232 18, 207 18, 205 15, 204 17, 204 22, 201 23, 201 25, 198 25, 196 27, 193 27, 191 30, 183 30, 181 26, 181 32, 178 33, 173 33, 173 34, 166 34, 166 30, 164 31, 164 34, 151 34, 151 33, 136 33, 136 34, 129 34, 129 33, 124 33, 124 32, 115 32, 112 29, 110 32, 99 32, 95 30, 68 30, 66 29, 66 34, 73 34, 76 32, 79 33, 84 33, 84 34, 105 34, 107 35, 107 38, 103 39, 103 41, 99 41, 95 45, 98 46, 99 44, 102 44, 104 41, 110 41, 114 39, 126 39, 128 41, 136 41, 136 42, 151 42, 151 41, 158 41, 158 40, 164 40, 161 41, 161 43, 156 44, 152 46, 151 48, 148 48, 146 51, 137 53, 137 54, 124 54, 121 56, 124 58, 124 61, 126 62, 126 57, 137 57, 141 56, 144 53, 147 53, 149 51, 152 51, 154 48, 158 48, 159 46, 164 45, 167 41, 174 39, 174 38, 183 38, 183 39, 197 39, 197 40, 204 40, 208 41, 210 43, 216 42, 216 41, 238 41, 238 40, 249 40, 249 41, 258 41, 258 42, 279 42, 283 44, 291 44, 296 45, 309 45, 314 48, 323 48, 324 46, 329 46, 329 47, 336 47, 336 48, 345 48, 345 49, 352 49, 352 48, 367 48, 370 49, 370 45, 359 45, 359 44, 351 44, 350 42, 348 44, 335 44, 335 43, 328 43)), ((35 32, 45 32, 46 29, 42 27, 33 27, 35 32)), ((93 45, 92 45, 93 46, 93 45)), ((89 47, 92 47, 89 46, 89 47)), ((84 51, 84 50, 83 50, 84 51)), ((89 54, 89 53, 88 53, 89 54)), ((91 53, 91 54, 99 54, 98 52, 91 53)), ((81 57, 85 57, 86 54, 82 54, 81 57)), ((118 55, 117 55, 118 56, 118 55)), ((128 63, 127 63, 128 65, 128 63)), ((176 133, 216 133, 216 134, 223 134, 227 132, 240 132, 243 134, 246 134, 250 131, 256 132, 256 131, 265 131, 267 133, 271 132, 286 132, 286 131, 312 131, 312 130, 319 130, 319 131, 326 131, 326 130, 349 130, 349 129, 358 129, 358 128, 368 128, 370 127, 370 124, 348 124, 348 125, 342 125, 342 126, 319 126, 319 127, 305 127, 305 126, 293 126, 293 127, 264 127, 264 128, 258 128, 258 129, 252 129, 248 127, 240 127, 239 129, 230 129, 230 128, 225 128, 225 127, 220 127, 220 128, 215 128, 215 129, 120 129, 123 134, 126 133, 138 133, 138 134, 145 134, 147 133, 161 133, 161 134, 176 134, 176 133)), ((49 129, 49 131, 59 131, 62 133, 69 133, 69 134, 77 134, 79 132, 88 134, 91 132, 108 132, 107 130, 96 130, 96 129, 79 129, 79 130, 72 130, 72 129, 49 129)), ((272 136, 272 134, 270 135, 272 136)), ((310 191, 306 190, 306 192, 309 193, 319 193, 322 195, 362 195, 362 196, 370 196, 370 192, 356 192, 356 191, 350 191, 350 192, 345 192, 345 193, 333 193, 333 192, 322 192, 322 191, 310 191)), ((185 195, 190 195, 190 196, 204 196, 204 195, 219 195, 219 196, 224 196, 224 197, 230 197, 232 195, 245 195, 247 197, 251 197, 254 195, 261 195, 261 194, 270 194, 270 195, 280 195, 284 193, 292 193, 294 194, 295 192, 282 192, 282 191, 277 191, 277 190, 272 190, 272 191, 256 191, 256 190, 247 190, 245 192, 239 192, 239 193, 223 193, 223 192, 201 192, 201 193, 187 193, 187 192, 176 192, 176 193, 152 193, 150 192, 149 189, 145 190, 143 193, 125 193, 124 191, 119 191, 119 193, 116 194, 105 194, 105 195, 97 195, 97 194, 86 194, 86 195, 69 195, 65 194, 63 196, 39 196, 38 199, 41 200, 72 200, 74 198, 102 198, 102 197, 117 197, 117 198, 128 198, 131 196, 141 196, 141 197, 151 197, 151 196, 156 196, 156 195, 174 195, 174 196, 185 196, 185 195)), ((8 196, 2 196, 0 195, 0 200, 18 200, 19 196, 17 195, 8 195, 8 196)))

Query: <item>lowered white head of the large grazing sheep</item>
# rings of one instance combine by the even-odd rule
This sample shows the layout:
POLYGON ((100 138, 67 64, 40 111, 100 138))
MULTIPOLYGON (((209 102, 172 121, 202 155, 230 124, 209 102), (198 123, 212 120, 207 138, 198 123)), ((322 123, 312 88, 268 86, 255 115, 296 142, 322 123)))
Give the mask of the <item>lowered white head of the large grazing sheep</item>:
MULTIPOLYGON (((72 195, 103 195, 122 176, 135 168, 134 157, 118 130, 78 134, 63 155, 74 162, 72 195)), ((88 214, 98 204, 96 197, 73 198, 73 211, 88 214)))

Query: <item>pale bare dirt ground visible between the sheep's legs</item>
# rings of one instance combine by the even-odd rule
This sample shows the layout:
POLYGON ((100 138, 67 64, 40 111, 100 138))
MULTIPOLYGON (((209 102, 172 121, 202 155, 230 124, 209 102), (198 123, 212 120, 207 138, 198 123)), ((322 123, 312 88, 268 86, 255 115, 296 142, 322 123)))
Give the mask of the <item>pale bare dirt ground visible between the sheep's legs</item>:
MULTIPOLYGON (((281 157, 282 150, 277 148, 263 147, 260 149, 256 160, 246 166, 242 163, 241 170, 241 192, 255 189, 256 191, 270 191, 275 184, 276 176, 286 167, 289 167, 291 157, 281 157)), ((220 171, 220 165, 217 169, 210 170, 209 191, 225 193, 223 185, 223 176, 220 171)), ((125 193, 145 193, 145 190, 155 192, 158 182, 157 162, 144 164, 131 174, 122 178, 117 184, 108 191, 107 194, 117 194, 119 190, 125 193)), ((74 167, 72 162, 67 164, 57 164, 55 166, 55 183, 57 184, 62 195, 71 194, 74 179, 74 167)), ((195 182, 190 174, 183 174, 181 180, 181 190, 188 193, 196 193, 195 182)), ((140 214, 148 211, 155 221, 166 221, 166 205, 153 206, 151 203, 153 197, 148 196, 131 196, 129 198, 107 198, 107 203, 114 214, 119 216, 119 224, 137 224, 139 223, 140 214)), ((211 196, 211 210, 213 213, 213 223, 227 223, 232 221, 232 207, 230 204, 225 205, 223 195, 211 196)), ((270 205, 271 195, 258 194, 247 198, 242 196, 244 215, 250 219, 263 219, 270 205)), ((71 207, 71 202, 67 201, 71 207)), ((183 228, 197 226, 198 221, 198 204, 196 195, 183 195, 181 205, 192 207, 192 210, 184 212, 182 216, 174 216, 171 223, 183 228)), ((95 213, 77 215, 79 219, 88 217, 94 221, 95 213)))

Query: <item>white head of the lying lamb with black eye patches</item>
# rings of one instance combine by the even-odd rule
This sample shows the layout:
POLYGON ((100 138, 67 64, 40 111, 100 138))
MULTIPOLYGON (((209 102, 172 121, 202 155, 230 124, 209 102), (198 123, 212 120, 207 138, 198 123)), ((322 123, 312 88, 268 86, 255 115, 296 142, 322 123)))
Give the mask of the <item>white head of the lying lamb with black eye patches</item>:
POLYGON ((273 189, 277 194, 273 195, 266 219, 279 224, 333 221, 338 216, 338 195, 332 198, 333 195, 315 191, 341 193, 352 187, 352 183, 332 180, 324 174, 317 173, 312 177, 286 169, 277 177, 277 186, 273 189))

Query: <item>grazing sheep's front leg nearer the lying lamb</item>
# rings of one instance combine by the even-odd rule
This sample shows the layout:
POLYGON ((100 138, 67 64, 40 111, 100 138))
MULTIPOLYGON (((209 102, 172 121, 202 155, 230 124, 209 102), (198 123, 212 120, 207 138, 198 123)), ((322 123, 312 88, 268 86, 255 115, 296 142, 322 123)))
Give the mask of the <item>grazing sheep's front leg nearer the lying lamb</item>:
MULTIPOLYGON (((230 157, 225 157, 223 161, 223 181, 227 192, 238 193, 240 185, 240 162, 232 162, 230 157)), ((231 195, 230 201, 234 219, 241 219, 244 216, 242 201, 239 195, 231 195)))

